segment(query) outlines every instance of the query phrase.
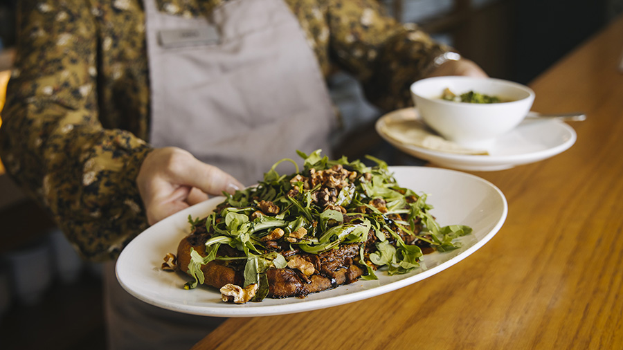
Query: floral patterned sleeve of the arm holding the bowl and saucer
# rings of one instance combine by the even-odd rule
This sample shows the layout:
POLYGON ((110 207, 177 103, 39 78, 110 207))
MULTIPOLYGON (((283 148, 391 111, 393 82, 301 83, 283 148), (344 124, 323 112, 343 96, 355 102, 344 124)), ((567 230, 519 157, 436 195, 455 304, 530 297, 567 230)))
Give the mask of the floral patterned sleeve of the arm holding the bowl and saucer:
POLYGON ((370 102, 392 110, 412 105, 409 86, 451 50, 415 24, 399 24, 381 1, 331 0, 329 55, 358 78, 370 102))

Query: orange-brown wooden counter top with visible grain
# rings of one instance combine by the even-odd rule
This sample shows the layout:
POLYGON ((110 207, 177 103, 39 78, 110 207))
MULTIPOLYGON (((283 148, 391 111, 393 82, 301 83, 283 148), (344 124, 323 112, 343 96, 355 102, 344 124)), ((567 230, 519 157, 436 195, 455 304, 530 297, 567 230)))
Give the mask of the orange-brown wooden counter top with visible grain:
POLYGON ((533 110, 584 111, 548 160, 472 172, 509 203, 459 264, 369 300, 231 318, 193 349, 623 349, 623 18, 530 85, 533 110))

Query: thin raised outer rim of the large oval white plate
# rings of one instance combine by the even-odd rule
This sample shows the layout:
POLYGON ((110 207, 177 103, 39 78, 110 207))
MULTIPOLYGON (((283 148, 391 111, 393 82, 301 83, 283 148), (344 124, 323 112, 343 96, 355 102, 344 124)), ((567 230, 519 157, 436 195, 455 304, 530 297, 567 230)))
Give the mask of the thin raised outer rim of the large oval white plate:
MULTIPOLYGON (((127 256, 127 253, 126 255, 124 255, 124 251, 127 251, 125 249, 122 250, 120 257, 117 259, 116 264, 115 264, 115 274, 118 279, 118 282, 123 287, 123 289, 125 289, 125 291, 127 291, 134 297, 138 298, 139 300, 142 300, 143 302, 147 302, 148 304, 159 306, 161 308, 165 308, 171 311, 178 311, 181 313, 188 313, 192 315, 204 315, 204 316, 213 316, 213 317, 258 317, 258 316, 285 315, 289 313, 313 311, 313 310, 317 310, 320 308, 328 308, 332 306, 349 304, 351 302, 365 300, 370 297, 382 295, 390 291, 395 291, 399 288, 404 288, 405 286, 414 284, 416 282, 421 281, 422 279, 426 279, 428 277, 431 277, 432 275, 440 273, 441 271, 446 270, 446 268, 450 268, 451 266, 457 264, 463 259, 469 257, 470 255, 473 254, 473 252, 476 252, 476 250, 479 250, 480 248, 482 248, 482 246, 484 246, 488 241, 490 241, 497 234, 497 232, 500 230, 500 228, 502 228, 502 226, 504 225, 507 219, 508 203, 507 203, 507 199, 505 195, 496 185, 485 180, 484 178, 480 178, 479 176, 468 174, 465 172, 456 171, 453 169, 413 167, 413 166, 392 166, 389 168, 390 168, 390 171, 392 171, 392 169, 419 169, 419 171, 433 172, 433 173, 434 172, 451 172, 451 173, 458 174, 459 176, 465 176, 466 178, 471 178, 473 180, 480 181, 481 183, 489 187, 491 190, 494 190, 494 192, 497 194, 496 199, 500 199, 501 204, 502 204, 501 215, 499 219, 497 219, 498 221, 496 222, 494 227, 491 228, 491 230, 489 230, 489 232, 487 232, 482 237, 482 239, 480 239, 479 241, 476 241, 476 243, 474 243, 473 246, 470 246, 463 252, 460 252, 455 257, 451 257, 449 260, 443 261, 441 264, 437 266, 433 266, 432 268, 427 268, 426 270, 423 270, 422 272, 419 272, 415 275, 406 277, 404 279, 399 279, 397 281, 390 282, 388 284, 383 284, 380 286, 375 286, 373 288, 363 289, 361 291, 356 291, 354 293, 347 293, 344 295, 335 295, 332 297, 320 298, 318 300, 313 300, 312 302, 309 302, 309 303, 300 302, 300 303, 294 303, 294 304, 276 304, 276 305, 274 304, 273 305, 262 305, 261 303, 253 303, 252 304, 253 306, 251 307, 248 306, 249 304, 244 304, 244 305, 230 305, 232 307, 206 306, 205 308, 198 308, 195 305, 171 304, 170 302, 161 302, 159 300, 154 300, 153 298, 147 297, 145 295, 142 295, 141 293, 134 291, 131 288, 131 286, 128 286, 123 281, 123 279, 120 277, 120 270, 119 270, 120 264, 123 264, 123 261, 125 257, 127 256)), ((217 201, 219 203, 219 201, 222 201, 222 199, 223 197, 219 196, 219 197, 214 197, 213 199, 210 199, 208 201, 210 201, 210 203, 211 201, 217 201)), ((208 203, 208 201, 205 201, 197 205, 193 205, 190 208, 181 210, 180 212, 173 214, 171 217, 163 219, 163 221, 160 221, 159 223, 152 225, 150 228, 147 228, 147 230, 141 232, 141 234, 145 234, 145 232, 148 232, 148 231, 157 230, 157 227, 159 226, 160 223, 163 223, 166 221, 178 220, 177 217, 186 217, 189 212, 198 210, 198 208, 201 206, 208 207, 209 205, 211 205, 210 203, 208 203), (156 229, 153 229, 153 228, 156 228, 156 229)), ((141 234, 139 234, 139 236, 141 234)), ((132 245, 132 241, 129 243, 128 246, 132 245)), ((340 286, 339 288, 344 288, 344 287, 346 286, 340 286)))

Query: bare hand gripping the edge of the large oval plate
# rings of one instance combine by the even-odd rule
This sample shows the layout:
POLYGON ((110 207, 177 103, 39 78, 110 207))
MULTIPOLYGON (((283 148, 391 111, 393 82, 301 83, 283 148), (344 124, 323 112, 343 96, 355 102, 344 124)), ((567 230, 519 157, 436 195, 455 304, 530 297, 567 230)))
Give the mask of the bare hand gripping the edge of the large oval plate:
POLYGON ((150 225, 205 201, 208 194, 233 194, 243 187, 230 174, 176 147, 151 151, 138 171, 136 185, 150 225))

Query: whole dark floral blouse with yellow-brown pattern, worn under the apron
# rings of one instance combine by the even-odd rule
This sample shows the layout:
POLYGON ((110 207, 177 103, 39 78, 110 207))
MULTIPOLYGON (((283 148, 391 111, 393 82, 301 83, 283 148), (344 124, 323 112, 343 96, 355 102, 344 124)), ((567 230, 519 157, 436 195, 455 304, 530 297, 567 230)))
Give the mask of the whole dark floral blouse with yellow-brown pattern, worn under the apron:
MULTIPOLYGON (((156 0, 199 17, 226 0, 156 0)), ((408 86, 437 55, 413 24, 376 0, 285 0, 328 76, 343 69, 381 109, 410 104, 408 86)), ((7 172, 82 257, 114 259, 147 221, 136 175, 150 151, 150 88, 141 0, 24 0, 0 128, 7 172)))

